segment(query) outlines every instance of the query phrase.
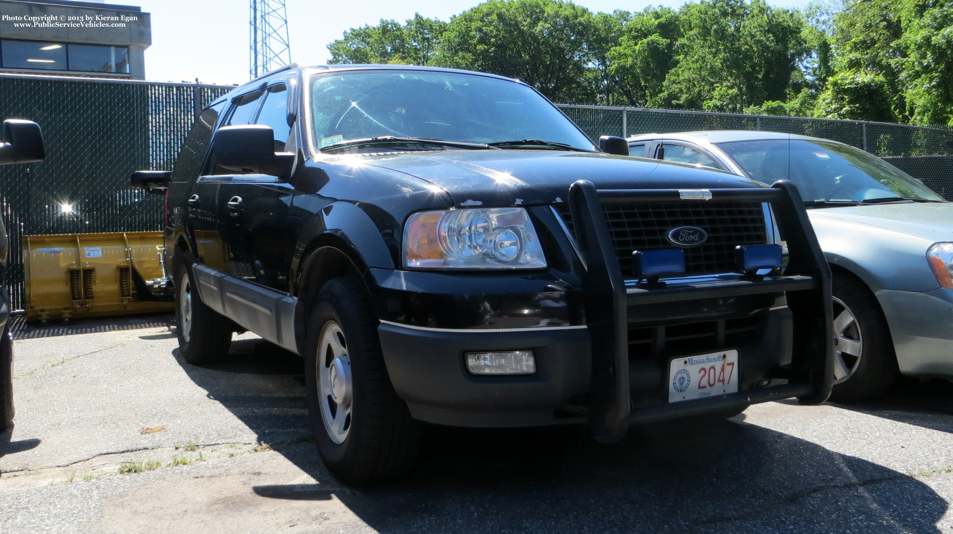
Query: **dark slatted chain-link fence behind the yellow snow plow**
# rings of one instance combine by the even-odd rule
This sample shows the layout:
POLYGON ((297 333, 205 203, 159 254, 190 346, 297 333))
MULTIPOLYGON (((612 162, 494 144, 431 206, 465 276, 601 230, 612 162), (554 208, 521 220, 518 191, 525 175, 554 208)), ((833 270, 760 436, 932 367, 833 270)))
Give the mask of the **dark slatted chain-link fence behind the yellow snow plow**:
POLYGON ((172 170, 196 108, 232 89, 0 75, 0 119, 36 121, 47 146, 40 163, 0 167, 14 309, 25 304, 22 236, 162 229, 163 198, 133 190, 129 176, 172 170))

